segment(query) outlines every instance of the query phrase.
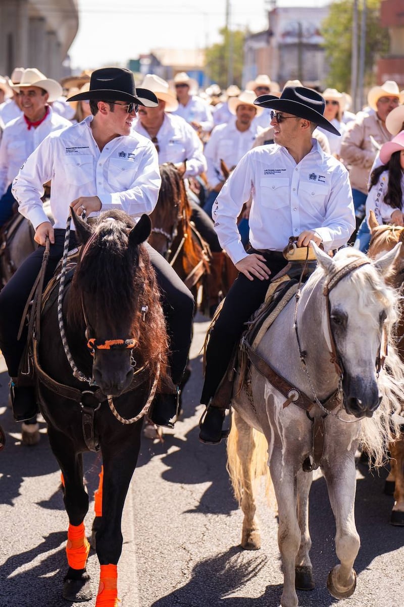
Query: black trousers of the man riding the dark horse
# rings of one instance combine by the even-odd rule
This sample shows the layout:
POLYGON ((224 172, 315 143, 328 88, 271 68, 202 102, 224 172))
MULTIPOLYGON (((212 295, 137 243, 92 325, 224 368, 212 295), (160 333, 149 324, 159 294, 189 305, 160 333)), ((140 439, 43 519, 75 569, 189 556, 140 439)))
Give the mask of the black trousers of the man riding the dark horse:
MULTIPOLYGON (((51 279, 63 254, 64 229, 55 229, 55 244, 45 274, 45 285, 51 279)), ((76 244, 75 232, 70 234, 70 248, 76 244)), ((156 271, 162 293, 162 305, 170 335, 170 365, 174 384, 179 384, 187 365, 188 350, 192 338, 194 299, 170 264, 146 243, 151 263, 156 271)), ((39 246, 18 268, 12 279, 0 292, 0 348, 4 354, 8 373, 18 375, 19 362, 27 341, 27 330, 17 341, 19 325, 36 276, 41 270, 44 246, 39 246)))

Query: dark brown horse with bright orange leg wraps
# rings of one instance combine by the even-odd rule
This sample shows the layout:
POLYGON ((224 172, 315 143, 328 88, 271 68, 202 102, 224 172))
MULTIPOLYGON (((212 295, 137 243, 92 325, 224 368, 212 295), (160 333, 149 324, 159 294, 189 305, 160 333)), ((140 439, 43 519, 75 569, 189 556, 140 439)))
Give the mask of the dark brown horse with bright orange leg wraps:
POLYGON ((71 602, 91 599, 82 453, 99 446, 104 481, 96 605, 116 607, 122 509, 139 453, 142 416, 158 385, 169 382, 167 334, 153 267, 142 246, 151 228, 147 215, 136 225, 122 211, 104 212, 93 225, 73 219, 81 257, 59 314, 64 332, 56 298, 49 296, 42 312, 39 347, 34 342, 38 396, 62 470, 69 518, 63 596, 71 602), (80 374, 84 381, 77 379, 80 374))

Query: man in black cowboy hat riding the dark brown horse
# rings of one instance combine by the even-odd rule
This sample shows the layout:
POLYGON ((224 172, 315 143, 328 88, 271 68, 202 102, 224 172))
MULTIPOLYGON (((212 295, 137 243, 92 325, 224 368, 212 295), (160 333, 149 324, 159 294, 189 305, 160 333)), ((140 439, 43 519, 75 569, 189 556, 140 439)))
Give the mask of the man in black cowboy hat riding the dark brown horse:
MULTIPOLYGON (((36 412, 33 388, 19 385, 18 381, 24 339, 18 341, 17 334, 25 302, 41 268, 46 237, 51 249, 45 283, 62 256, 70 206, 76 214, 85 211, 94 216, 101 209, 122 209, 139 218, 153 211, 161 184, 156 148, 147 138, 131 131, 137 106, 157 106, 154 93, 136 90, 129 70, 111 67, 95 70, 90 90, 71 97, 73 101, 82 99, 90 100, 91 116, 42 141, 13 184, 19 211, 33 224, 39 245, 0 293, 0 347, 12 378, 17 421, 30 419, 36 412), (53 226, 41 203, 42 184, 50 179, 53 226)), ((166 260, 147 246, 171 337, 171 376, 178 385, 191 341, 193 296, 166 260)), ((159 395, 154 402, 153 421, 173 427, 176 411, 177 395, 159 395)))

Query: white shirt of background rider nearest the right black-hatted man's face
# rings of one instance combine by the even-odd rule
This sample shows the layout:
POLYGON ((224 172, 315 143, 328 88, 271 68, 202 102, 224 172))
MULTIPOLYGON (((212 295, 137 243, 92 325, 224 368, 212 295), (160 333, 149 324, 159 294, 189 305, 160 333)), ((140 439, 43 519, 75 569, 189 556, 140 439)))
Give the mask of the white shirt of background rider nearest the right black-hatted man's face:
POLYGON ((239 131, 236 127, 236 116, 232 116, 227 124, 218 124, 211 132, 205 144, 205 158, 208 164, 207 178, 211 188, 224 181, 220 171, 220 160, 224 160, 228 169, 232 169, 240 158, 253 147, 259 127, 250 124, 247 131, 239 131))

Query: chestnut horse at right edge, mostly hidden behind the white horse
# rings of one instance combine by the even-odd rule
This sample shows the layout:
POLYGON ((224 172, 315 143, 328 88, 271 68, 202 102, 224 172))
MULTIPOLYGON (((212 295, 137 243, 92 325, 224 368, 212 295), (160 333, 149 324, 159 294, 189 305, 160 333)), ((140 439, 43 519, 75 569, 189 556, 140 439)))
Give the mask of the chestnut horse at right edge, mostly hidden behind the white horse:
MULTIPOLYGON (((369 217, 371 228, 371 242, 368 255, 377 259, 386 251, 391 251, 397 242, 404 243, 404 228, 393 225, 379 225, 376 215, 371 211, 369 217)), ((392 287, 402 291, 403 273, 399 265, 393 266, 386 276, 386 282, 392 287)), ((397 350, 404 361, 404 310, 401 310, 400 321, 396 329, 397 350)), ((404 414, 404 402, 402 402, 401 414, 404 414)), ((402 424, 404 424, 404 417, 402 424)), ((390 522, 393 525, 404 526, 404 426, 400 439, 389 445, 390 472, 386 479, 385 492, 394 493, 394 506, 392 507, 390 522)))

